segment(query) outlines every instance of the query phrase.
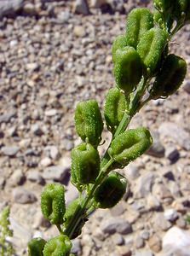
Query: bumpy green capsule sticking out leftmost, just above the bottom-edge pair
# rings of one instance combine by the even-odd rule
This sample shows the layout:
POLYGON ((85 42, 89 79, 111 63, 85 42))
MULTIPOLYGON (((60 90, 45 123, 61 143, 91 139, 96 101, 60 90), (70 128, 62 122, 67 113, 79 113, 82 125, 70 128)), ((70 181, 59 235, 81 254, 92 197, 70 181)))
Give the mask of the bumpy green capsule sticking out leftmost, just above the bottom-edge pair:
POLYGON ((51 224, 62 224, 66 212, 65 189, 60 184, 48 184, 41 195, 43 217, 51 224))

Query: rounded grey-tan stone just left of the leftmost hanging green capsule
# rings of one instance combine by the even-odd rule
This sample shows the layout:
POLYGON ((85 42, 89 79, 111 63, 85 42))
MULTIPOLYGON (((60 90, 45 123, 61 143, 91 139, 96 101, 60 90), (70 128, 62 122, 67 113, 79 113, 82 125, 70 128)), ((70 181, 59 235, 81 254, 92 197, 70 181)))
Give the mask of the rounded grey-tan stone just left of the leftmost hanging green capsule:
POLYGON ((21 187, 13 189, 12 195, 13 201, 19 204, 29 204, 37 201, 36 195, 21 187))

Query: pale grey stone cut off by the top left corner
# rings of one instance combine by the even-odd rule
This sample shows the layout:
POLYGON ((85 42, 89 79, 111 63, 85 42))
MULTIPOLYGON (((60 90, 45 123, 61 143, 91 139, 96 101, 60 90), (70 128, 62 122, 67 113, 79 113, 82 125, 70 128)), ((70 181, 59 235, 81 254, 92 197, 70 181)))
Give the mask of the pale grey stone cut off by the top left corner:
POLYGON ((0 1, 0 18, 4 15, 14 15, 22 8, 24 0, 2 0, 0 1))

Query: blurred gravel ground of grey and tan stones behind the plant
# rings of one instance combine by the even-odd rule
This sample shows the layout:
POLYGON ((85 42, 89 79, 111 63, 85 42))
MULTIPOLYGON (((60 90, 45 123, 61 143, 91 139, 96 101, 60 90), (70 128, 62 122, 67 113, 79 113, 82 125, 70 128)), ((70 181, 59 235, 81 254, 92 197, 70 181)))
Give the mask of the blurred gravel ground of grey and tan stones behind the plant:
MULTIPOLYGON (((74 108, 89 98, 103 108, 114 85, 112 41, 135 7, 153 3, 0 1, 0 210, 11 207, 17 255, 27 255, 33 236, 57 234, 40 211, 45 183, 65 184, 67 203, 78 196, 69 182, 71 149, 79 143, 74 108)), ((128 193, 91 216, 73 241, 76 255, 190 255, 189 42, 188 25, 170 43, 188 63, 181 89, 149 103, 130 125, 148 127, 153 147, 122 171, 128 193)))

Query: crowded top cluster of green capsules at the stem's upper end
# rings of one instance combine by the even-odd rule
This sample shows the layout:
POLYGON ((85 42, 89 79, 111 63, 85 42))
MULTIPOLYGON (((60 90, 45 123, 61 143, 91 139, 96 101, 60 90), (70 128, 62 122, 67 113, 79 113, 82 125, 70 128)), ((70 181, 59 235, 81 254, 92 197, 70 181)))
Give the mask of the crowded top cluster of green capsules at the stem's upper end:
MULTIPOLYGON (((127 17, 126 32, 112 44, 116 86, 127 98, 138 89, 141 79, 155 81, 147 87, 151 99, 170 96, 187 73, 186 61, 169 55, 169 42, 174 32, 190 22, 190 1, 153 3, 154 13, 146 8, 133 9, 127 17)), ((107 126, 112 127, 109 119, 107 126)))

